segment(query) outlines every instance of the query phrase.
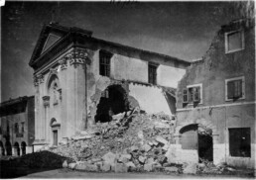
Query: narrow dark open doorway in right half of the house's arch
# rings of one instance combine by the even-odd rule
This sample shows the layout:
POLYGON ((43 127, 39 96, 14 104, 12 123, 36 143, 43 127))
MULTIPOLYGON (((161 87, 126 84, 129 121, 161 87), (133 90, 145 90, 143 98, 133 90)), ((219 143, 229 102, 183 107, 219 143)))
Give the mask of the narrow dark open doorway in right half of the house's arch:
POLYGON ((198 156, 202 160, 213 161, 212 131, 198 127, 198 156))

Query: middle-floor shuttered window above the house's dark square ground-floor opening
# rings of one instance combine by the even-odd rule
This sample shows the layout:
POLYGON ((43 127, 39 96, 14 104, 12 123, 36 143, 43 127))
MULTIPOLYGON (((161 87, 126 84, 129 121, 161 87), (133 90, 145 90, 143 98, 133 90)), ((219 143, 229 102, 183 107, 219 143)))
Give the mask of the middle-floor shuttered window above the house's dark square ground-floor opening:
POLYGON ((225 80, 226 101, 244 99, 244 77, 236 77, 225 80))

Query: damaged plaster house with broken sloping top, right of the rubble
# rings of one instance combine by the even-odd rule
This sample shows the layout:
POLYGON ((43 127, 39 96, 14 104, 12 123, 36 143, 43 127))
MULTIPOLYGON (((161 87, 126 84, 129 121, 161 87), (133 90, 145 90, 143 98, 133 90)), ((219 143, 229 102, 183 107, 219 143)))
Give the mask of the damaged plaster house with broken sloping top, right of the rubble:
POLYGON ((173 161, 255 168, 255 20, 222 26, 177 90, 173 161))

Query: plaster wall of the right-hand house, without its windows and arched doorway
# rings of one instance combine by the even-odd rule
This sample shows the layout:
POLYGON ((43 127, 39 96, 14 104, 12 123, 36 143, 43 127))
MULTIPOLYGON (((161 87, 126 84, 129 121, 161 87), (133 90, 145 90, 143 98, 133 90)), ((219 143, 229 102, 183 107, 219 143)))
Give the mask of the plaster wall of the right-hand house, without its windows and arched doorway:
MULTIPOLYGON (((254 22, 225 26, 217 32, 202 60, 193 62, 179 82, 177 90, 177 127, 200 124, 212 130, 213 162, 255 168, 255 31, 254 22), (244 31, 244 49, 225 53, 225 33, 244 31), (225 100, 225 79, 244 76, 245 98, 225 100), (183 90, 188 85, 202 85, 201 103, 183 103, 183 90), (250 128, 251 157, 229 155, 229 128, 250 128)), ((179 144, 179 140, 177 140, 179 144)))

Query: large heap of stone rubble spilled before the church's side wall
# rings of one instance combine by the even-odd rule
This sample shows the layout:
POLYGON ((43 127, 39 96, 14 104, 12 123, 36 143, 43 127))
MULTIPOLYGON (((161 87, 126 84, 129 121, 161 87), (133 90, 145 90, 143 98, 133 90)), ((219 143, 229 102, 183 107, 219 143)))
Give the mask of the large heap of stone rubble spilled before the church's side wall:
POLYGON ((171 117, 133 110, 112 119, 49 150, 70 157, 63 166, 76 170, 182 172, 182 165, 169 163, 166 156, 174 127, 171 117))

